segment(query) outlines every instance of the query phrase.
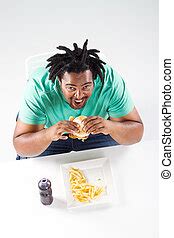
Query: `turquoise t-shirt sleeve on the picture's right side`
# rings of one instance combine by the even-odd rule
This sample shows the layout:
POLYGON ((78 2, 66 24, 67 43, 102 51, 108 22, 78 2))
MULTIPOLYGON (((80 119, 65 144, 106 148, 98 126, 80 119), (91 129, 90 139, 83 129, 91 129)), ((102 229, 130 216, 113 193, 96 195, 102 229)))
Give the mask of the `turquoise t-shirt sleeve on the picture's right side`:
POLYGON ((112 68, 109 77, 112 80, 112 92, 108 107, 109 116, 115 118, 126 116, 134 108, 130 93, 123 78, 112 68))

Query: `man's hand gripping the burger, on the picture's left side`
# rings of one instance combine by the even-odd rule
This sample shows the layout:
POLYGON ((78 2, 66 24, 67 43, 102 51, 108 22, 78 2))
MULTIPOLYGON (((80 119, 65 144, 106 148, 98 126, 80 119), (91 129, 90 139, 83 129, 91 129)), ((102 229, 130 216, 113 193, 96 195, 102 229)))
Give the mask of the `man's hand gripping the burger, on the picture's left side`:
POLYGON ((49 127, 47 130, 50 133, 52 141, 57 141, 59 139, 66 140, 68 136, 63 135, 64 133, 79 132, 78 124, 72 121, 59 121, 55 125, 49 127))

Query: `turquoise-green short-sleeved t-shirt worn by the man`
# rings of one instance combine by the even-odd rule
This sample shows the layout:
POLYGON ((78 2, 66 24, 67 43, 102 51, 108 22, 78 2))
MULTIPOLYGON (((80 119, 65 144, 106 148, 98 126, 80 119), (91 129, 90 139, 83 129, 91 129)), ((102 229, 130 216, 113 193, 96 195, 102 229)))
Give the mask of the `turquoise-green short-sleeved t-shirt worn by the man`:
POLYGON ((109 65, 105 65, 104 85, 99 76, 85 106, 73 109, 66 101, 58 80, 48 80, 48 69, 38 68, 27 82, 21 102, 19 119, 26 124, 44 124, 46 128, 70 116, 122 117, 133 110, 134 104, 124 80, 109 65))

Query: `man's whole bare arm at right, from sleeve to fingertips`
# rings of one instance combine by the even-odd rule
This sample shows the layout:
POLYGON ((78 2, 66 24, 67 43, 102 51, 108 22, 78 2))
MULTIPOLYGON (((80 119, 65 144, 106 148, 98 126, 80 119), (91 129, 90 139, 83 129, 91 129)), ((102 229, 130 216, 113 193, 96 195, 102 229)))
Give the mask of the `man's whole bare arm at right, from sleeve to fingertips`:
POLYGON ((84 120, 84 128, 87 133, 109 134, 119 144, 134 144, 141 140, 143 136, 143 123, 136 110, 124 117, 109 118, 105 120, 101 117, 88 117, 84 120))

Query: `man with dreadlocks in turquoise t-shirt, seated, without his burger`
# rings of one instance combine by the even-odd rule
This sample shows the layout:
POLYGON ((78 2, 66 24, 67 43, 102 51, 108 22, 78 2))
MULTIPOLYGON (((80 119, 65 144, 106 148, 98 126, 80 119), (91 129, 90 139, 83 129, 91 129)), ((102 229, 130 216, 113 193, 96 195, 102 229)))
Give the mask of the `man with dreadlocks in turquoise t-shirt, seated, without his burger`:
POLYGON ((27 83, 13 143, 21 157, 66 153, 141 140, 143 123, 123 79, 98 56, 74 43, 74 50, 50 57, 27 83), (69 117, 87 116, 85 142, 68 135, 78 132, 69 117))

